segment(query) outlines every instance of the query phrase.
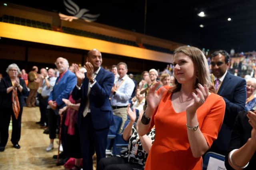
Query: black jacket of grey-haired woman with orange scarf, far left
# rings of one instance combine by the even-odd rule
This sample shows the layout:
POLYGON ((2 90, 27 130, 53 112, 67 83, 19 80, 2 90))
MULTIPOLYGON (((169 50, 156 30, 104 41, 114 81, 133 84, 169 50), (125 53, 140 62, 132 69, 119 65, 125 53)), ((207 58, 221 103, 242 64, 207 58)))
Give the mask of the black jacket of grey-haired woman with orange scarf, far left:
MULTIPOLYGON (((28 92, 25 81, 21 78, 20 85, 22 86, 22 92, 17 90, 17 95, 20 102, 20 107, 25 106, 24 95, 28 92)), ((2 78, 0 82, 0 108, 12 108, 12 92, 6 93, 7 88, 12 86, 12 81, 9 76, 2 78)))

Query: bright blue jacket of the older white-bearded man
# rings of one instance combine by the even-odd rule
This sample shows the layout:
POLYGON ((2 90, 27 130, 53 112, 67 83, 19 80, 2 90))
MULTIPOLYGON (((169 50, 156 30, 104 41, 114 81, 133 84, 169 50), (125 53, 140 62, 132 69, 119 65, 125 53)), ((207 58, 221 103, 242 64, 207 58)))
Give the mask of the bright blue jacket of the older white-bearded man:
POLYGON ((56 101, 57 109, 54 111, 58 115, 59 109, 66 106, 62 101, 62 98, 68 99, 70 93, 72 92, 73 88, 76 86, 76 75, 72 73, 70 70, 62 76, 62 78, 56 79, 52 92, 48 98, 48 101, 56 101))

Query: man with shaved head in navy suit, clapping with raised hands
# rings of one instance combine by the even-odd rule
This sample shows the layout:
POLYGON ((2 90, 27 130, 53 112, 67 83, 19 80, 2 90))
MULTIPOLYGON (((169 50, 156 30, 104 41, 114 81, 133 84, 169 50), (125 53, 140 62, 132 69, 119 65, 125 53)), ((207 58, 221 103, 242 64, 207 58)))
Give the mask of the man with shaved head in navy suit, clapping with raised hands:
POLYGON ((92 170, 92 156, 97 155, 97 164, 106 157, 107 135, 114 123, 109 95, 114 84, 114 74, 101 67, 102 55, 97 49, 88 52, 85 67, 79 72, 74 64, 77 85, 72 92, 74 100, 81 98, 78 110, 78 130, 82 149, 83 169, 92 170))

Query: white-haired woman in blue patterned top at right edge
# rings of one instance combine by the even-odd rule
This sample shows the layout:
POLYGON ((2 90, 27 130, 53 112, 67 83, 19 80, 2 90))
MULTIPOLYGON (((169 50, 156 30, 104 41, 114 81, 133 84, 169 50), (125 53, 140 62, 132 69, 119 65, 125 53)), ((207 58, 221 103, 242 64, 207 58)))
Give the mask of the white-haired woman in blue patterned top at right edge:
POLYGON ((256 90, 256 78, 246 79, 246 105, 245 108, 247 111, 252 109, 256 104, 255 91, 256 90))

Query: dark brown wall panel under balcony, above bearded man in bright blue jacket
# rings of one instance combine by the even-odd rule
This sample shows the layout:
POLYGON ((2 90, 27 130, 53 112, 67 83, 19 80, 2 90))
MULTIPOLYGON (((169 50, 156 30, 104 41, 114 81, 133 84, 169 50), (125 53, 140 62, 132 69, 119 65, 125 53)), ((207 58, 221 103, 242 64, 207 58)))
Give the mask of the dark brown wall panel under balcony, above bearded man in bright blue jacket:
POLYGON ((69 64, 81 64, 82 61, 82 54, 47 49, 28 48, 28 62, 55 63, 58 57, 66 58, 69 64))

